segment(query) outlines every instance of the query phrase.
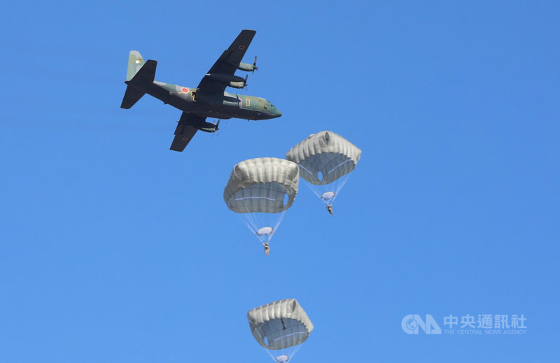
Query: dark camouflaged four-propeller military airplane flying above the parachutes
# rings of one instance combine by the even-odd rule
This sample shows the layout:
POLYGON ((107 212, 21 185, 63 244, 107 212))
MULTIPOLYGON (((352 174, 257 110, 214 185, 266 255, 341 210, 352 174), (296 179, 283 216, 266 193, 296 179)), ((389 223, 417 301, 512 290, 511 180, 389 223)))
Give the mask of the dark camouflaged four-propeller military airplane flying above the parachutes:
POLYGON ((240 118, 244 120, 268 120, 279 118, 282 113, 266 99, 225 92, 225 87, 244 88, 247 76, 235 76, 235 71, 252 72, 257 69, 257 57, 253 64, 242 63, 241 59, 253 40, 256 31, 243 30, 230 48, 225 50, 214 66, 204 75, 196 88, 172 85, 155 80, 158 62, 144 59, 136 50, 128 56, 127 90, 121 108, 131 108, 144 94, 149 94, 183 111, 175 129, 175 138, 170 150, 183 151, 197 130, 218 131, 220 120, 240 118), (206 122, 216 118, 218 122, 206 122))

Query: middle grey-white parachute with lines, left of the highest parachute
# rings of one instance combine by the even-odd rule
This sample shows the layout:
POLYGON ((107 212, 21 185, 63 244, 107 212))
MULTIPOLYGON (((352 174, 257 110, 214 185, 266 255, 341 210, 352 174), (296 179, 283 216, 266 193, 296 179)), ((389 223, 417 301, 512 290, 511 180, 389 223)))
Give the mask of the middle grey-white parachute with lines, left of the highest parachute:
POLYGON ((275 157, 248 159, 233 167, 223 199, 230 210, 241 213, 247 227, 268 243, 297 194, 297 164, 275 157))

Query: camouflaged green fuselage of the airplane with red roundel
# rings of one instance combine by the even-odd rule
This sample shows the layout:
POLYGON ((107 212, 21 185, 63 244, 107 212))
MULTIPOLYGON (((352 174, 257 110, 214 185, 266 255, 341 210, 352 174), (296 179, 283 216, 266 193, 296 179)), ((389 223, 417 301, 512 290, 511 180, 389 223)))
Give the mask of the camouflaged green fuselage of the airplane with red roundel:
MULTIPOLYGON (((130 85, 134 87, 132 83, 130 85)), ((260 97, 230 94, 229 92, 216 94, 157 80, 147 87, 142 87, 142 90, 165 104, 206 118, 269 120, 282 115, 274 105, 260 97)))

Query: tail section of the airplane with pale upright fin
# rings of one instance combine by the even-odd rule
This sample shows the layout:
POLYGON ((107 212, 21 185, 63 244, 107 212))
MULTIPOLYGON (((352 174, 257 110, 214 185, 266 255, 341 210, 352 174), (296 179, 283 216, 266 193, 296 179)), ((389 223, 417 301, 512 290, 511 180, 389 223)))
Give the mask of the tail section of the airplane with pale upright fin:
POLYGON ((144 58, 136 50, 132 50, 128 55, 127 70, 127 90, 120 108, 131 108, 139 99, 146 94, 146 86, 151 85, 155 78, 155 68, 158 62, 148 59, 144 62, 144 58))

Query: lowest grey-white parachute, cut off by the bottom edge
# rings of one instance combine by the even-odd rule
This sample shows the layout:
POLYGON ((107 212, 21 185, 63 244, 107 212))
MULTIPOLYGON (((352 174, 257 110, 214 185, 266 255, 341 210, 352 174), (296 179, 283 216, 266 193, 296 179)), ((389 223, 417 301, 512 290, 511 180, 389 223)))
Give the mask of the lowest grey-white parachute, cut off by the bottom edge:
POLYGON ((313 324, 296 299, 284 299, 248 311, 251 333, 275 362, 288 362, 306 341, 313 324))

